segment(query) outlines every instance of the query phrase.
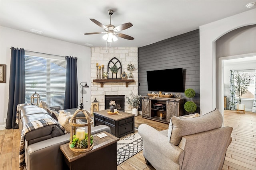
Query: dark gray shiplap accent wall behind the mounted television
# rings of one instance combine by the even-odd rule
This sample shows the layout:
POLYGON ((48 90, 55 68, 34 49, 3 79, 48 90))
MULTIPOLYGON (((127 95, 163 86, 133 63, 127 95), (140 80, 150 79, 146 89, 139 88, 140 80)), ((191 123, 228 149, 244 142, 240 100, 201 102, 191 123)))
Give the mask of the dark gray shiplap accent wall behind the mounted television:
MULTIPOLYGON (((170 68, 183 68, 184 90, 195 90, 196 96, 191 101, 196 103, 199 113, 199 29, 138 48, 138 94, 147 96, 150 93, 146 71, 170 68)), ((166 80, 156 77, 156 81, 175 83, 175 75, 166 75, 166 80)))

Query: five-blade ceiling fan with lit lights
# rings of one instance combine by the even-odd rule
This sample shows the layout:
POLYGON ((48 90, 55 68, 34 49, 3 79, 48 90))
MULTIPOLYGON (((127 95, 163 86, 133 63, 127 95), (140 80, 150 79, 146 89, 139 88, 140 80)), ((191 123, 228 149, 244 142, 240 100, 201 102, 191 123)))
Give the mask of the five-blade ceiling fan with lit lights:
POLYGON ((112 25, 111 24, 111 15, 113 13, 114 13, 113 10, 108 10, 108 14, 110 15, 110 24, 109 25, 103 25, 102 23, 100 23, 97 20, 90 19, 91 21, 93 21, 94 23, 96 23, 97 25, 102 27, 105 32, 84 33, 84 35, 104 33, 105 35, 103 35, 103 39, 106 40, 107 43, 111 43, 112 41, 116 41, 117 40, 116 36, 124 38, 124 39, 128 39, 128 40, 133 40, 134 37, 131 37, 131 36, 123 34, 123 33, 119 33, 119 31, 122 31, 124 29, 130 28, 132 26, 132 23, 130 23, 130 22, 123 23, 123 24, 121 24, 121 25, 119 25, 117 27, 112 25))

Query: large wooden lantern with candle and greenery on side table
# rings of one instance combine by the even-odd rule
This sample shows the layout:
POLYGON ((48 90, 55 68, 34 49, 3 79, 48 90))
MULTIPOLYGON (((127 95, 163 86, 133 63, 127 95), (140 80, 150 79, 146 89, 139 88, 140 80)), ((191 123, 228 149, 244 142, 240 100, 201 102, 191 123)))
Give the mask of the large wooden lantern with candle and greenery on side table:
POLYGON ((70 119, 70 145, 69 148, 75 152, 88 152, 93 148, 93 137, 91 135, 91 124, 93 120, 90 118, 90 113, 86 111, 83 104, 77 109, 70 119), (79 112, 84 113, 85 117, 76 117, 79 112), (77 119, 86 119, 87 123, 79 124, 77 119), (86 127, 87 126, 87 133, 86 127))

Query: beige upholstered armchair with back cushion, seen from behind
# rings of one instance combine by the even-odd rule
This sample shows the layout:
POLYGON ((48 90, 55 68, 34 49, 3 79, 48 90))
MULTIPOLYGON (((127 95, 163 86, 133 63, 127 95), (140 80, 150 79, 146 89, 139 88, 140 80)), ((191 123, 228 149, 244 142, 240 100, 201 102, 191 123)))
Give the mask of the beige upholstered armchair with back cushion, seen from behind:
POLYGON ((221 170, 232 141, 232 127, 222 127, 222 122, 215 109, 201 116, 172 116, 164 131, 140 125, 146 163, 157 170, 221 170))

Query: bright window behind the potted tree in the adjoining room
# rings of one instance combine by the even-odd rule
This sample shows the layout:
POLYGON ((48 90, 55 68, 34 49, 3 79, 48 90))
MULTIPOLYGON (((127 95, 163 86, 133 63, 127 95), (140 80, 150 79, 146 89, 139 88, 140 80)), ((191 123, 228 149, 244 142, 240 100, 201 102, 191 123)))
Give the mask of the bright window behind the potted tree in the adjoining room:
MULTIPOLYGON (((242 94, 242 99, 254 99, 254 90, 255 90, 255 70, 235 70, 234 75, 236 76, 237 72, 245 73, 247 77, 253 76, 248 90, 245 94, 242 94)), ((236 96, 238 98, 238 96, 236 96)))

